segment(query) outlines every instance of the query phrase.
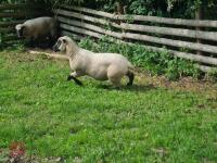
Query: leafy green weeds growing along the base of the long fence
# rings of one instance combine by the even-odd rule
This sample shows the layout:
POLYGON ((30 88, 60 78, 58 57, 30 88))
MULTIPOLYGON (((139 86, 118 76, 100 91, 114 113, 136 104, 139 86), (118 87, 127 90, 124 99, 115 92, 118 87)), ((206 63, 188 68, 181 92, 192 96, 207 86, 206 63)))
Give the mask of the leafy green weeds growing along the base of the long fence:
POLYGON ((182 76, 199 77, 200 75, 193 62, 176 58, 166 49, 163 52, 154 52, 141 45, 115 43, 107 37, 97 41, 92 41, 90 38, 82 39, 79 45, 94 52, 122 53, 136 66, 146 70, 153 75, 164 74, 173 80, 182 76))

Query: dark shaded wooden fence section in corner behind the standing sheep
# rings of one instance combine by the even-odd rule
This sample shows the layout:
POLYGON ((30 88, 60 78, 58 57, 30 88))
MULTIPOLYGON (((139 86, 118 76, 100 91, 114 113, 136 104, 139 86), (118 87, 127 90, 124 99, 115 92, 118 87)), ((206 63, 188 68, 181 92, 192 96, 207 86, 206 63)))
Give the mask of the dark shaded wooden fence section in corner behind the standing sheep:
POLYGON ((49 11, 43 5, 38 4, 0 4, 0 34, 1 41, 17 41, 15 25, 23 23, 27 18, 48 15, 49 11))

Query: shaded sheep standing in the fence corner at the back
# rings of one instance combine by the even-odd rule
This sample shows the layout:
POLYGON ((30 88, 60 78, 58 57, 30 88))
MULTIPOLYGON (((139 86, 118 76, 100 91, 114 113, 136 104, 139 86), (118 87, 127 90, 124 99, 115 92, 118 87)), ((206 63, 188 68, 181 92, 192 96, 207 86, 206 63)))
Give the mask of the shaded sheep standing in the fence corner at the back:
MULTIPOLYGON (((58 21, 53 17, 37 17, 28 20, 23 24, 15 26, 18 38, 26 38, 30 45, 34 42, 46 40, 56 41, 58 38, 58 21)), ((49 41, 52 43, 52 41, 49 41)), ((54 43, 54 42, 53 42, 54 43)))

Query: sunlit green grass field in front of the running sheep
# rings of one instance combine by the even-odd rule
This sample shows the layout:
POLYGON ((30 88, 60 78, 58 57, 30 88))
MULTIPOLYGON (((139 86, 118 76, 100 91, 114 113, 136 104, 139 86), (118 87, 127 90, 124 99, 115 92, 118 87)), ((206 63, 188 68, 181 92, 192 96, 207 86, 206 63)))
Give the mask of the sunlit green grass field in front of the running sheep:
POLYGON ((0 149, 22 141, 28 155, 65 162, 217 162, 215 85, 138 75, 115 90, 87 77, 76 86, 68 73, 67 62, 0 52, 0 149))

